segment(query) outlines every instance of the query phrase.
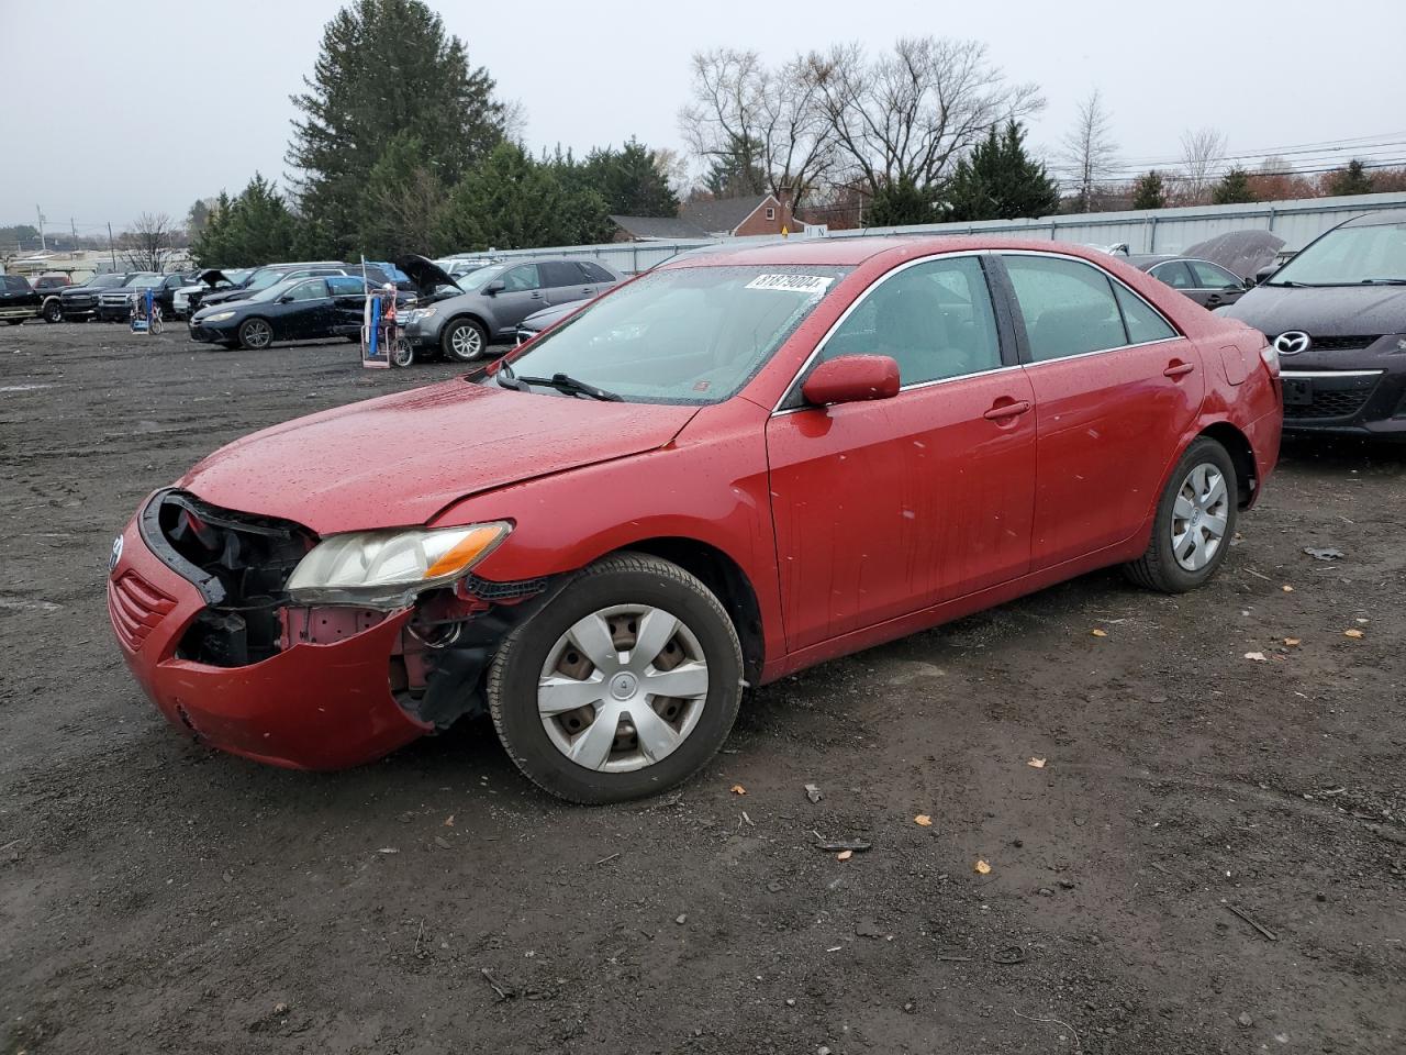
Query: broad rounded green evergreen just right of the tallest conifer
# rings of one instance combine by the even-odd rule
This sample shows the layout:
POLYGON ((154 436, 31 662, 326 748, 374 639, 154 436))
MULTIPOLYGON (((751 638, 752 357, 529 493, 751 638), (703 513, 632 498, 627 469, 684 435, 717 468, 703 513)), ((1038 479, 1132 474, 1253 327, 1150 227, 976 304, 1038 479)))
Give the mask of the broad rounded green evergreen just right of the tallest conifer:
POLYGON ((450 191, 440 238, 451 252, 537 249, 600 241, 606 203, 571 177, 569 155, 533 160, 499 143, 450 191))

